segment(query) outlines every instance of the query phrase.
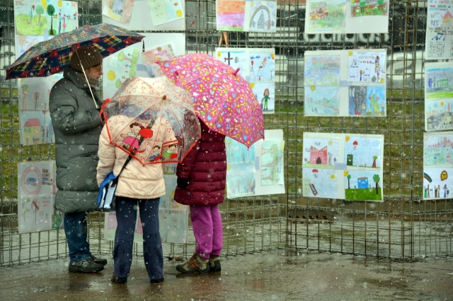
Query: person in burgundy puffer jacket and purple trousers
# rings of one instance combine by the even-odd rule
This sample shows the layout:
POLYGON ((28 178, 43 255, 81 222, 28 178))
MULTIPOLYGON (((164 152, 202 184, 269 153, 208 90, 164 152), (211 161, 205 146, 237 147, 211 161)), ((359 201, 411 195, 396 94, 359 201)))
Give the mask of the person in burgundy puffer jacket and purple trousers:
POLYGON ((226 185, 225 136, 211 131, 200 119, 201 139, 176 167, 178 186, 174 199, 190 205, 194 256, 176 266, 181 273, 221 271, 222 217, 217 204, 224 201, 226 185))

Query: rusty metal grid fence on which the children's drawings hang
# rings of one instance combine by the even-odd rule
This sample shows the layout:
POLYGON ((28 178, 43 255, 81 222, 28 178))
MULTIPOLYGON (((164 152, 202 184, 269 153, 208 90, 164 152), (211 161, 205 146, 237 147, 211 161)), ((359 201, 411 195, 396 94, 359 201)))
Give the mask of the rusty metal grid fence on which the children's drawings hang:
MULTIPOLYGON (((78 1, 81 25, 101 23, 101 1, 78 1)), ((423 201, 423 64, 427 1, 391 0, 388 34, 308 35, 305 5, 277 0, 277 33, 228 33, 229 47, 273 47, 275 114, 266 129, 285 135, 285 195, 227 200, 220 209, 224 254, 287 247, 389 259, 452 255, 452 199, 423 201), (387 117, 305 117, 306 50, 387 49, 387 117), (384 202, 302 196, 302 134, 384 135, 384 202)), ((186 0, 186 52, 214 54, 219 46, 215 1, 186 0), (195 21, 195 22, 194 22, 195 21)), ((55 158, 53 145, 21 146, 15 81, 4 81, 14 55, 13 0, 0 0, 0 265, 67 256, 63 230, 18 234, 17 164, 55 158)), ((224 46, 224 45, 223 45, 224 46)), ((108 254, 103 213, 88 216, 93 252, 108 254)), ((166 254, 187 256, 195 241, 164 244, 166 254)), ((134 252, 141 255, 137 245, 134 252)))

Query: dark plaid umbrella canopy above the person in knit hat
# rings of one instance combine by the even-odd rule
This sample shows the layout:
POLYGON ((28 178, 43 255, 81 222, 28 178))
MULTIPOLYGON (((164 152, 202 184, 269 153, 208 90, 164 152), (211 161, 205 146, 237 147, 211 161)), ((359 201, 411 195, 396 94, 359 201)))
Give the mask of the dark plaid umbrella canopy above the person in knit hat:
POLYGON ((6 69, 6 79, 50 76, 69 66, 74 50, 90 45, 103 57, 140 42, 143 35, 111 24, 86 25, 30 47, 6 69))

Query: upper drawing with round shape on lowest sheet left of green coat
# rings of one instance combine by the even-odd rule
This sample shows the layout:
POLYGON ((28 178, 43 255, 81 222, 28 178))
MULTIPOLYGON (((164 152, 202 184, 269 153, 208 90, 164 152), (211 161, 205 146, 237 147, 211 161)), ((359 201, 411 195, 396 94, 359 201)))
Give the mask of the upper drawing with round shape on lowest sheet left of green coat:
POLYGON ((18 196, 53 196, 55 186, 55 161, 30 161, 18 163, 18 196))

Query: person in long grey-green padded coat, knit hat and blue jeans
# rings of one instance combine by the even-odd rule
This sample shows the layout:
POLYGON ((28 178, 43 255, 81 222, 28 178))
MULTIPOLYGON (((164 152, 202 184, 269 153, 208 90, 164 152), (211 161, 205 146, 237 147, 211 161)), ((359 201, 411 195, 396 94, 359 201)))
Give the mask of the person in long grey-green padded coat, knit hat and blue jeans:
POLYGON ((64 213, 70 272, 96 273, 107 264, 107 260, 91 254, 86 241, 86 213, 97 207, 99 189, 96 167, 102 100, 96 86, 103 74, 102 60, 93 47, 77 49, 64 70, 64 78, 50 91, 57 163, 55 208, 64 213))

